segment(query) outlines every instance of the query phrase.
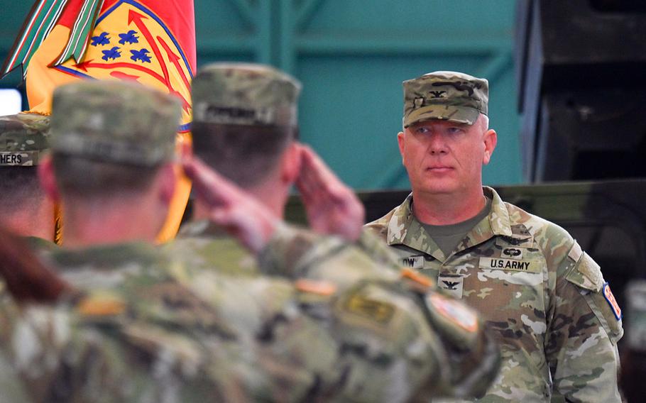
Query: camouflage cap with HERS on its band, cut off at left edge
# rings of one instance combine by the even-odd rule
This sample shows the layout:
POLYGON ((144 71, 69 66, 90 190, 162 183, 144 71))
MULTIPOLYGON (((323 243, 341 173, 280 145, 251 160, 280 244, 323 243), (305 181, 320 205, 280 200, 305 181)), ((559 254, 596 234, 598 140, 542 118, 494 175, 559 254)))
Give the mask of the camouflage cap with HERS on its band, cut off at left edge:
POLYGON ((48 150, 49 116, 0 116, 0 167, 38 165, 48 150))

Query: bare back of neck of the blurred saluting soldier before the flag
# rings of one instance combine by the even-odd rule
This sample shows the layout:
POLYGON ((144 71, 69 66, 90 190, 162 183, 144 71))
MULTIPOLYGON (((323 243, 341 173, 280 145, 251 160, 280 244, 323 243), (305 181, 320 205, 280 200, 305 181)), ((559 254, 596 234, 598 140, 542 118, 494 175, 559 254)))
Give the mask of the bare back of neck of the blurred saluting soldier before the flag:
POLYGON ((154 243, 166 212, 146 203, 90 203, 63 209, 62 245, 87 248, 93 245, 145 241, 154 243))

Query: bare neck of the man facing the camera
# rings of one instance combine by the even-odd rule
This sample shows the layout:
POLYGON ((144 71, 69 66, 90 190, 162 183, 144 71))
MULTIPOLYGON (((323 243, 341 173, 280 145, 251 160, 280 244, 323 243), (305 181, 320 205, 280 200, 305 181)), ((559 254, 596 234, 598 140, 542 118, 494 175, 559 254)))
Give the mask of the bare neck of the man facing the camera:
POLYGON ((417 220, 434 226, 461 223, 480 213, 487 199, 482 187, 460 194, 412 192, 412 211, 417 220))

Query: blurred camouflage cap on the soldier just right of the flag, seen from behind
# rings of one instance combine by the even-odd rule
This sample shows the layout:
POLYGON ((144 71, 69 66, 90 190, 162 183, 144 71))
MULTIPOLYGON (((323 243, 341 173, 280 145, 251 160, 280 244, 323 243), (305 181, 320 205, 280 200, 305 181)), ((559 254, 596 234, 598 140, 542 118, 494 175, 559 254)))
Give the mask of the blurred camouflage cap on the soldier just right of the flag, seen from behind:
POLYGON ((296 126, 300 82, 265 65, 214 63, 192 82, 193 121, 296 126))

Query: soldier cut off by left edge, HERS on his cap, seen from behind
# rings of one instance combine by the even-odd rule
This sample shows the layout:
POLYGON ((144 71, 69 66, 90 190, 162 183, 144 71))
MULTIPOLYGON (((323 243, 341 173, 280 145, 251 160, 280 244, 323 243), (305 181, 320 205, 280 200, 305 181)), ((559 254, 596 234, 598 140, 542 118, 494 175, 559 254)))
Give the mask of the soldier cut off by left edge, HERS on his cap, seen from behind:
POLYGON ((0 223, 21 236, 52 241, 54 205, 38 184, 48 150, 49 117, 0 116, 0 223))

